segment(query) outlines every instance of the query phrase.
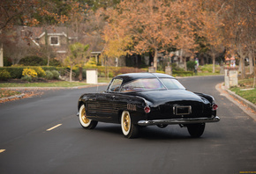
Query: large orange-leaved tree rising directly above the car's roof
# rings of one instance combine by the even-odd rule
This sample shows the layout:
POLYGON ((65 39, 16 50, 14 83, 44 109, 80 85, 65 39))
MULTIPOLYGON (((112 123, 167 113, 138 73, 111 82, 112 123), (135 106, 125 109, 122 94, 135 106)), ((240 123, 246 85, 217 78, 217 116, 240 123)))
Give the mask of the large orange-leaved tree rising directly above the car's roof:
POLYGON ((172 35, 168 25, 171 15, 164 1, 126 0, 108 12, 109 25, 116 35, 114 40, 120 39, 120 35, 132 38, 131 53, 142 54, 153 49, 154 68, 157 69, 157 54, 162 47, 169 45, 172 35))

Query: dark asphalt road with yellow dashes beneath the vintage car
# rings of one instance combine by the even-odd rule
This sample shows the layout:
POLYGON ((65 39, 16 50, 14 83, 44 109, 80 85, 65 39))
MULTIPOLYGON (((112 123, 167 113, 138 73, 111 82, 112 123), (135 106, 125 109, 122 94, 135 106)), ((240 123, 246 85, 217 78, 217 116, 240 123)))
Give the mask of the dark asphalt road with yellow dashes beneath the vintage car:
POLYGON ((95 88, 0 104, 0 173, 256 173, 256 121, 215 90, 223 76, 180 82, 213 95, 219 105, 221 121, 208 123, 199 139, 179 126, 146 127, 132 140, 116 124, 83 129, 77 100, 95 88))

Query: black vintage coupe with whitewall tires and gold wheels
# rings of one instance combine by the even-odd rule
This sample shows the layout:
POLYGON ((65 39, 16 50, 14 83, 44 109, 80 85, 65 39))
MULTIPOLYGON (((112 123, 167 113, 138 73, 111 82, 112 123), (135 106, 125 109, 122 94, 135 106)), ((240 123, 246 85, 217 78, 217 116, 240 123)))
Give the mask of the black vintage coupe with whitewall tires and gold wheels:
POLYGON ((187 91, 173 76, 131 73, 116 76, 107 91, 86 93, 79 98, 79 122, 93 129, 98 121, 121 123, 125 137, 134 138, 139 127, 178 124, 192 137, 200 137, 207 122, 216 116, 215 98, 187 91))

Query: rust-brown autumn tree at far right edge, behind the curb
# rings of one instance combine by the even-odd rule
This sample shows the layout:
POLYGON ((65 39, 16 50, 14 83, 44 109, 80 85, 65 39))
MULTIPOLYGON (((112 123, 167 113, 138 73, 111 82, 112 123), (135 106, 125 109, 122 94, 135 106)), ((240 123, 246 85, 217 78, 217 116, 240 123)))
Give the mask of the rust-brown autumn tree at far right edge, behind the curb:
POLYGON ((237 54, 242 78, 245 78, 245 57, 255 57, 255 6, 253 0, 223 0, 222 11, 219 12, 224 20, 225 47, 230 54, 237 54))

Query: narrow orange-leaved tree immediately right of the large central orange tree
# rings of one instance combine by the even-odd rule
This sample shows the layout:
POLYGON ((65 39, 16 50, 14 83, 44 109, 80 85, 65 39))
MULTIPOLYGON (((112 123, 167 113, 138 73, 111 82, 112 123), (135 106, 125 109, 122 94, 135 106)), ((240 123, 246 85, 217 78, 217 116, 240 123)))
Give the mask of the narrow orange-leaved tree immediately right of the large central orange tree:
POLYGON ((180 51, 180 58, 186 67, 186 57, 183 53, 190 54, 191 58, 197 53, 197 37, 200 37, 200 30, 203 27, 202 14, 199 1, 175 1, 170 6, 175 21, 169 25, 173 27, 175 33, 172 37, 172 45, 180 51), (174 9, 174 10, 172 10, 174 9))

